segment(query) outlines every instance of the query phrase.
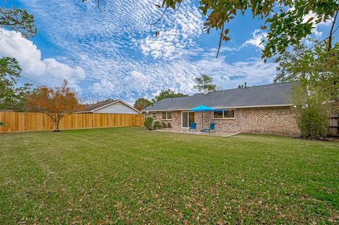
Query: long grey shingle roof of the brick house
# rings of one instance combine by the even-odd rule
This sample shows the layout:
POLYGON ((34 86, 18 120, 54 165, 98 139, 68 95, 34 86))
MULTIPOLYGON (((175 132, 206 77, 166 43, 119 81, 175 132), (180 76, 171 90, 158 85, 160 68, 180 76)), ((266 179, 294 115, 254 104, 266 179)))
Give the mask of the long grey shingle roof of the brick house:
POLYGON ((195 94, 187 97, 162 99, 142 111, 187 110, 200 105, 215 109, 249 108, 249 107, 283 107, 291 106, 289 100, 295 83, 281 83, 230 89, 195 94))

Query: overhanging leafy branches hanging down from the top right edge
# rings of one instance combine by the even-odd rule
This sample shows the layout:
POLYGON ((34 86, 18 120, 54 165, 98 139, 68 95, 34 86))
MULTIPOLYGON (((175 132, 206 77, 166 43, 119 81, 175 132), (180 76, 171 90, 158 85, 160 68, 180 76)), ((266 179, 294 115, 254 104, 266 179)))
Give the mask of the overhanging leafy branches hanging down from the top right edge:
MULTIPOLYGON (((158 8, 176 9, 182 0, 163 0, 158 8)), ((222 41, 230 40, 230 29, 225 25, 233 20, 238 14, 244 15, 251 11, 254 18, 265 19, 261 29, 268 30, 267 42, 263 49, 262 57, 270 58, 275 54, 282 54, 288 46, 296 45, 302 39, 310 35, 316 24, 332 19, 328 39, 328 50, 331 49, 333 30, 339 11, 339 1, 316 1, 316 0, 287 0, 287 1, 199 1, 203 16, 206 16, 204 30, 209 33, 210 29, 220 30, 219 47, 222 41), (308 19, 305 19, 308 18, 308 19)))

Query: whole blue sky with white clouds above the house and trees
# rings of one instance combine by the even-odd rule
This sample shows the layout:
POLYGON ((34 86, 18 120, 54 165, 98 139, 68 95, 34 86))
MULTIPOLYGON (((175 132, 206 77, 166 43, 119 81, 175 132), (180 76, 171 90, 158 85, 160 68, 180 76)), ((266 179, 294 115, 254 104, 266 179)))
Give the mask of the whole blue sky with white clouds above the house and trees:
MULTIPOLYGON (((226 25, 232 39, 222 43, 215 59, 218 32, 203 32, 198 1, 184 1, 178 11, 167 11, 150 25, 160 17, 154 6, 160 2, 105 1, 100 11, 94 1, 1 1, 32 13, 38 33, 27 40, 1 30, 0 56, 16 57, 25 78, 39 84, 60 85, 68 79, 84 102, 112 98, 133 103, 168 88, 193 94, 194 78, 202 73, 222 89, 272 83, 275 64, 261 60, 265 33, 251 13, 226 25)), ((326 23, 318 25, 314 37, 327 30, 326 23)))

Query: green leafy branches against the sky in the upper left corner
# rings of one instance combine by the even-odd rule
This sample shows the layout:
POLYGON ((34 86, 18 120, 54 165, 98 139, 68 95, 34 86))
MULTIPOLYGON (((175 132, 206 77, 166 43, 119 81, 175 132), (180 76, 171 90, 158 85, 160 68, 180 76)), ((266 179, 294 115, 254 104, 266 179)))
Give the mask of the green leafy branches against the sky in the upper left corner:
POLYGON ((18 8, 0 8, 0 28, 21 32, 23 37, 33 37, 37 33, 34 17, 27 11, 18 8))

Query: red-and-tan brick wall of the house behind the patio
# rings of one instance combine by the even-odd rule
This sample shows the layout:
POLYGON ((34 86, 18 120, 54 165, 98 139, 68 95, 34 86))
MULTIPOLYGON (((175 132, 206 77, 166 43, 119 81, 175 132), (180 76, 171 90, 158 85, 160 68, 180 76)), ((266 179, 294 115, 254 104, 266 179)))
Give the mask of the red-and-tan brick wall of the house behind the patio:
MULTIPOLYGON (((210 122, 215 122, 216 130, 236 131, 244 133, 275 133, 285 135, 298 135, 299 129, 290 107, 266 107, 235 109, 235 118, 213 118, 213 112, 194 113, 194 121, 201 129, 201 115, 203 114, 203 127, 207 128, 210 122)), ((156 121, 162 122, 161 112, 157 112, 156 121)), ((172 112, 173 128, 181 128, 181 111, 172 112)))

